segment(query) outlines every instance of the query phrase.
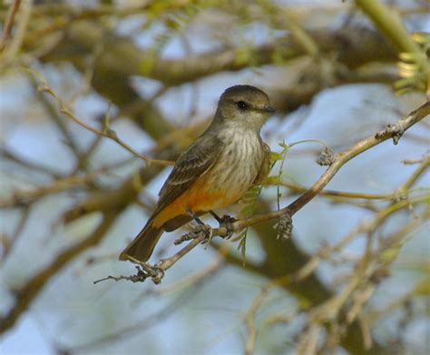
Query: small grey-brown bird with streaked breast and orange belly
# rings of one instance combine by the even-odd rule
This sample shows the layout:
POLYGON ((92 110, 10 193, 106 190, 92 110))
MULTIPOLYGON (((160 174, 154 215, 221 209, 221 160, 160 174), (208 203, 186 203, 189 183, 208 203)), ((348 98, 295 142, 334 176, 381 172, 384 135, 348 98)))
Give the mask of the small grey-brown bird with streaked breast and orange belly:
POLYGON ((147 261, 162 232, 237 202, 259 183, 269 171, 270 155, 259 132, 274 111, 269 96, 254 86, 227 89, 210 126, 181 153, 155 211, 120 260, 147 261))

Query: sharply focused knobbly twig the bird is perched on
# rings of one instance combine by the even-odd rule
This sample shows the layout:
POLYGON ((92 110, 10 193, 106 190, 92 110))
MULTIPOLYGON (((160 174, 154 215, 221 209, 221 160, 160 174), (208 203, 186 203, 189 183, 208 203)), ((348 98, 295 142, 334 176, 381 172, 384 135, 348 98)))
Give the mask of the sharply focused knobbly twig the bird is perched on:
MULTIPOLYGON (((296 212, 298 212, 303 206, 305 206, 308 202, 310 202, 318 193, 327 185, 328 182, 335 176, 335 174, 339 171, 339 169, 345 165, 348 161, 356 157, 357 155, 366 152, 368 149, 376 146, 379 143, 385 142, 386 140, 393 138, 394 143, 398 143, 398 139, 415 123, 423 120, 428 114, 430 114, 430 102, 427 101, 425 104, 422 104, 415 111, 409 113, 406 117, 398 120, 395 124, 389 124, 386 129, 378 132, 366 139, 354 144, 350 148, 347 148, 345 151, 337 153, 336 159, 331 163, 331 165, 327 168, 327 171, 321 175, 317 182, 315 182, 307 192, 303 193, 297 200, 288 204, 288 206, 282 208, 279 211, 269 212, 262 215, 257 215, 250 217, 248 219, 239 220, 237 222, 232 223, 232 231, 240 232, 243 229, 250 227, 252 225, 268 222, 270 220, 277 219, 279 220, 285 215, 292 217, 296 212)), ((426 163, 425 163, 426 165, 426 163)), ((420 197, 419 202, 424 202, 428 200, 428 196, 420 197)), ((290 226, 288 226, 290 228, 290 226)), ((219 228, 213 228, 210 230, 210 238, 215 236, 226 237, 229 235, 228 228, 224 226, 220 226, 219 228)), ((142 262, 139 265, 142 269, 138 269, 141 272, 142 280, 144 281, 147 278, 151 277, 151 280, 158 284, 161 282, 161 279, 164 275, 164 271, 171 268, 171 266, 179 261, 185 254, 194 249, 200 242, 206 242, 208 240, 208 235, 205 232, 197 233, 195 239, 193 239, 189 244, 187 244, 181 251, 178 251, 176 254, 171 256, 170 258, 161 260, 154 265, 151 265, 148 262, 142 262)), ((108 276, 107 279, 112 279, 115 281, 118 280, 131 280, 135 281, 136 276, 121 276, 119 278, 108 276)))

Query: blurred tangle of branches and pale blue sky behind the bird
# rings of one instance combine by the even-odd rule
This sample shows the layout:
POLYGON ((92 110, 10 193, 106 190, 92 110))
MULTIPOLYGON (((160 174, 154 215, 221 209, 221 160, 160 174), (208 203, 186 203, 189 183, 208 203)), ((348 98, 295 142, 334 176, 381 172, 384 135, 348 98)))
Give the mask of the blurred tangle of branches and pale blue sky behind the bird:
POLYGON ((93 284, 135 272, 118 254, 171 167, 87 129, 174 161, 225 88, 256 85, 278 109, 262 137, 279 154, 255 208, 228 212, 277 210, 325 172, 324 144, 348 149, 425 102, 428 6, 2 2, 0 352, 428 353, 428 119, 345 164, 290 239, 275 222, 215 238, 160 285, 93 284))

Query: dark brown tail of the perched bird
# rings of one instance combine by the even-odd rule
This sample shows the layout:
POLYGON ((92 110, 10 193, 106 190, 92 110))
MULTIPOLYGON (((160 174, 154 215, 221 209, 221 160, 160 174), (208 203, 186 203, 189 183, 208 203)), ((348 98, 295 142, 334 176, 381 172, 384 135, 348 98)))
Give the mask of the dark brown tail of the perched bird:
POLYGON ((120 260, 147 261, 150 259, 162 232, 164 232, 162 228, 153 227, 149 221, 136 238, 122 251, 120 260))

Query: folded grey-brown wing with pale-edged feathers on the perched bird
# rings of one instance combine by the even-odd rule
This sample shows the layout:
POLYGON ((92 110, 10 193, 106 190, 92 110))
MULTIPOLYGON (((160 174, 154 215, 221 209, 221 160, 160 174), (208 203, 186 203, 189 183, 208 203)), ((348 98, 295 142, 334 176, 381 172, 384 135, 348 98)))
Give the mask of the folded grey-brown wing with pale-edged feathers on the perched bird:
POLYGON ((171 174, 161 188, 157 212, 167 207, 185 192, 197 178, 210 170, 217 161, 224 144, 215 136, 202 136, 181 153, 171 174))

